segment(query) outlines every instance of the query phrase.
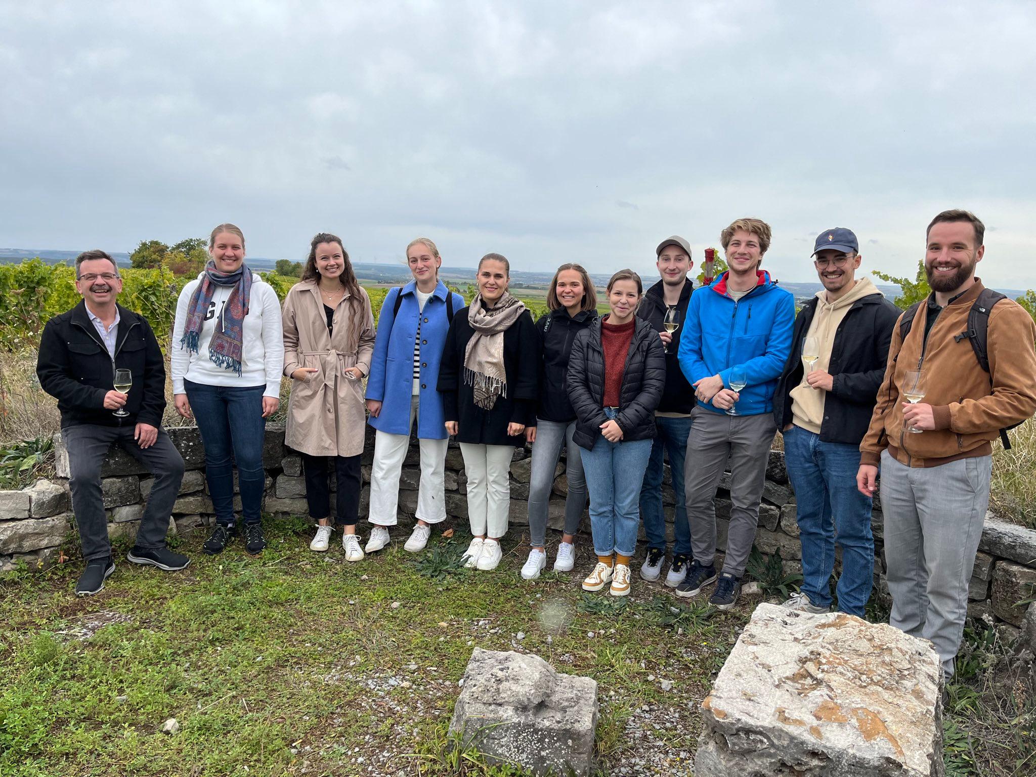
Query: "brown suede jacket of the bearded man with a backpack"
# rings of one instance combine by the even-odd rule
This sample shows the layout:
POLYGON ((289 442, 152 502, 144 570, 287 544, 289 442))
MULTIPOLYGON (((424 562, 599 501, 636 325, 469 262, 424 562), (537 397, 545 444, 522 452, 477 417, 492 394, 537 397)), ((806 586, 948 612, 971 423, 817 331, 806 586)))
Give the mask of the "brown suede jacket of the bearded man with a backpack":
POLYGON ((968 338, 956 340, 968 328, 968 313, 982 288, 976 278, 974 286, 943 309, 927 345, 927 306, 918 310, 905 340, 896 322, 877 404, 860 443, 861 464, 876 466, 886 448, 912 467, 987 456, 1001 429, 1036 413, 1036 323, 1020 305, 1003 299, 989 313, 988 373, 979 366, 968 338), (903 424, 905 400, 899 386, 906 371, 921 364, 922 348, 927 387, 921 401, 932 406, 936 428, 911 434, 903 424))

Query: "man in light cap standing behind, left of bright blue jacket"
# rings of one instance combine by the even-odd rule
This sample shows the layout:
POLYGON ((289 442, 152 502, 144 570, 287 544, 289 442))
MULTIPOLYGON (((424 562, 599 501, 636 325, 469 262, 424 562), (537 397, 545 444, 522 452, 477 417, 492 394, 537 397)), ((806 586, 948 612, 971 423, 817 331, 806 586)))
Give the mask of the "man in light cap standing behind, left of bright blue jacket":
POLYGON ((691 433, 694 390, 680 369, 677 352, 680 350, 680 324, 687 316, 687 305, 694 287, 694 282, 687 274, 694 262, 691 261, 690 243, 680 235, 662 240, 655 249, 655 255, 658 257, 656 266, 662 280, 648 289, 637 310, 637 317, 655 327, 665 346, 665 391, 662 402, 655 411, 656 436, 640 489, 640 518, 648 536, 648 556, 640 567, 640 577, 644 580, 657 580, 665 560, 665 514, 662 508, 662 453, 665 451, 669 455, 669 471, 672 473, 672 490, 677 499, 672 522, 675 539, 672 566, 665 576, 665 584, 674 588, 687 575, 691 554, 691 529, 687 522, 687 506, 684 503, 684 458, 687 454, 687 438, 691 433), (672 333, 666 332, 665 327, 666 313, 670 310, 674 311, 677 324, 672 333))

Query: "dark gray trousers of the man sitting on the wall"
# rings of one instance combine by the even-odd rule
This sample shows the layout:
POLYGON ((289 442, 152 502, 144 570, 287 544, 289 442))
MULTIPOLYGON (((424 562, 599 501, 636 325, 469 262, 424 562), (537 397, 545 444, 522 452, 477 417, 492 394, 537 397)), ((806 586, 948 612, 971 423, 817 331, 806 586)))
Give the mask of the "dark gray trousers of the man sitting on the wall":
POLYGON ((71 509, 76 513, 83 558, 87 562, 112 554, 112 546, 108 541, 105 499, 100 490, 100 465, 104 464, 105 455, 112 442, 122 445, 154 474, 151 494, 137 529, 137 547, 143 550, 166 545, 173 502, 180 490, 180 481, 183 480, 183 458, 165 429, 159 429, 159 437, 153 445, 141 448, 133 438, 135 427, 135 424, 120 427, 80 424, 61 430, 61 437, 68 450, 71 509))

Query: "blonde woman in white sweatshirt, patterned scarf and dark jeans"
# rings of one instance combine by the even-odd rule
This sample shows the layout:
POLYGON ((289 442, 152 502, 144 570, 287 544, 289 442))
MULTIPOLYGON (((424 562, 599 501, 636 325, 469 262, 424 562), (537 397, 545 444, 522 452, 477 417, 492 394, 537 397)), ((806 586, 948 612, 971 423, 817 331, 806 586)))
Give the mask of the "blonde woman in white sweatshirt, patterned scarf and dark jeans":
POLYGON ((244 264, 244 235, 221 224, 208 238, 205 269, 176 303, 170 367, 176 411, 197 419, 217 525, 202 546, 220 553, 235 534, 233 454, 241 494, 244 550, 266 547, 259 523, 266 419, 281 396, 284 340, 277 292, 244 264))

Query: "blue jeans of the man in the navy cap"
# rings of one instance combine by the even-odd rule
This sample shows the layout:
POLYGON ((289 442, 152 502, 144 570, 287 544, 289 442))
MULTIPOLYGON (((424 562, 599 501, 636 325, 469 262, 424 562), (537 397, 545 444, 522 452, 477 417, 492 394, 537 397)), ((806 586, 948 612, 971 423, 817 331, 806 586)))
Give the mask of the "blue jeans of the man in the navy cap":
POLYGON ((802 591, 821 607, 831 606, 835 533, 842 549, 838 609, 863 617, 874 575, 874 538, 869 496, 856 488, 860 449, 822 442, 818 434, 793 426, 784 432, 784 463, 795 489, 802 541, 802 591))

